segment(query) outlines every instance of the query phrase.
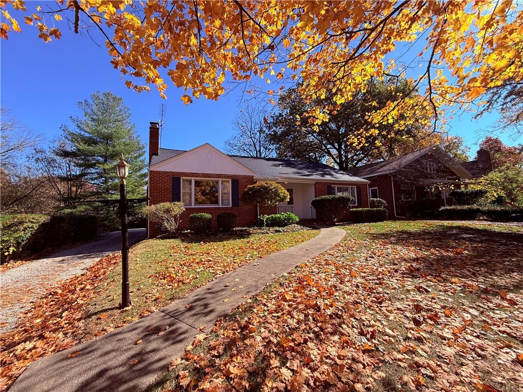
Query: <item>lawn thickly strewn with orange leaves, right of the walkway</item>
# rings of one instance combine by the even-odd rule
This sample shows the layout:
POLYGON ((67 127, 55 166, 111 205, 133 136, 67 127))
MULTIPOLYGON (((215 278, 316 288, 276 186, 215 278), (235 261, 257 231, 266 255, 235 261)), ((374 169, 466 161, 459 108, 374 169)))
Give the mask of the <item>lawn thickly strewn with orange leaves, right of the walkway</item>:
POLYGON ((522 227, 345 228, 198 335, 151 389, 522 390, 522 227))

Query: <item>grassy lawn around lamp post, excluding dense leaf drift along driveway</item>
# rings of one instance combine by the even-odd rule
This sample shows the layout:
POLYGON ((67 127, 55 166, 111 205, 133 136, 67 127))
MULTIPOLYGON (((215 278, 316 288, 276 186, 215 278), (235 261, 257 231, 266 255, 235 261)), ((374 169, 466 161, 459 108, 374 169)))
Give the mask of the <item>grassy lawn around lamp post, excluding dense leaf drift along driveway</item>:
POLYGON ((97 286, 96 297, 88 306, 85 328, 88 337, 146 316, 220 274, 302 243, 319 232, 249 234, 243 230, 219 236, 142 241, 129 252, 132 306, 118 308, 121 271, 116 268, 97 286))

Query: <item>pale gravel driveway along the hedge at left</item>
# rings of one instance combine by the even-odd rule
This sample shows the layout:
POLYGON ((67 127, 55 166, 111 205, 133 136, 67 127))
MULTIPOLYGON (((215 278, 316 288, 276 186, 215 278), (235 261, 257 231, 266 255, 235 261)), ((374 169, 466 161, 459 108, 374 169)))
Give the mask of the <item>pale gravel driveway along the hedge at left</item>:
MULTIPOLYGON (((129 229, 129 245, 145 236, 145 229, 129 229)), ((95 261, 121 249, 121 233, 106 233, 97 241, 61 250, 0 274, 0 333, 13 329, 18 315, 60 281, 82 273, 95 261)))

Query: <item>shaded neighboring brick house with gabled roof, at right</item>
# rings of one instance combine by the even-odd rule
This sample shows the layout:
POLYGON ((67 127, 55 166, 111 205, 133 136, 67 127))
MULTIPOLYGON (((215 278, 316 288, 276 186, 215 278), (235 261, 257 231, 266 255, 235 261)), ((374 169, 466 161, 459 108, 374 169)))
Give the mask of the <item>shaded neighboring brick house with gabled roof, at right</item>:
POLYGON ((492 171, 490 152, 480 149, 470 162, 458 163, 438 146, 349 170, 369 183, 369 198, 387 202, 389 217, 404 217, 412 206, 452 205, 448 193, 492 171))

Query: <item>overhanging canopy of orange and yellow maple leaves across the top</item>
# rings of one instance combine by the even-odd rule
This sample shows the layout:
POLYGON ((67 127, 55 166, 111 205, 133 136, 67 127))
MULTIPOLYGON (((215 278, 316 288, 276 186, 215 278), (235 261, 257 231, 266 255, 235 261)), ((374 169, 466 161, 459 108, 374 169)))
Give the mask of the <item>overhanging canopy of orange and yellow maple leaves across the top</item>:
POLYGON ((168 77, 186 103, 218 99, 226 82, 300 82, 302 97, 333 94, 332 107, 310 113, 322 122, 370 78, 407 77, 423 90, 416 105, 405 98, 370 116, 382 122, 405 108, 466 106, 488 88, 522 79, 523 8, 507 0, 57 3, 31 13, 21 0, 2 0, 2 38, 21 30, 21 16, 44 41, 59 39, 65 18, 75 32, 103 34, 129 88, 155 85, 164 97, 168 77))

